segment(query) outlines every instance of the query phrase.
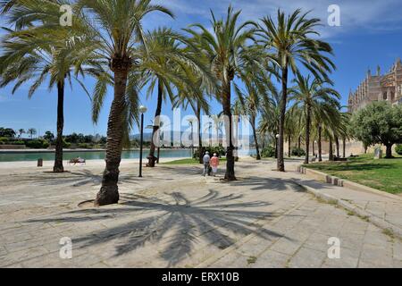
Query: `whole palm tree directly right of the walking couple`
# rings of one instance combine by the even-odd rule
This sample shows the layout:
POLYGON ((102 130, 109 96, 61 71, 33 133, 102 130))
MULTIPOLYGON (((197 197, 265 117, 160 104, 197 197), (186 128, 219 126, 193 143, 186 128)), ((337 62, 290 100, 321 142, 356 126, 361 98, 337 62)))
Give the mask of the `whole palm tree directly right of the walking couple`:
POLYGON ((234 145, 232 142, 232 116, 231 116, 231 82, 239 71, 241 54, 247 49, 247 39, 254 35, 253 29, 246 29, 248 25, 255 25, 246 21, 238 25, 240 11, 234 13, 229 6, 226 20, 217 20, 212 14, 213 31, 206 29, 201 24, 194 24, 191 27, 201 29, 200 34, 194 29, 186 29, 194 38, 199 41, 199 46, 205 55, 210 59, 212 71, 220 81, 221 90, 217 98, 222 103, 223 114, 227 117, 229 124, 225 124, 227 150, 226 150, 226 173, 225 179, 236 180, 235 158, 233 156, 234 145), (226 126, 227 125, 227 126, 226 126))

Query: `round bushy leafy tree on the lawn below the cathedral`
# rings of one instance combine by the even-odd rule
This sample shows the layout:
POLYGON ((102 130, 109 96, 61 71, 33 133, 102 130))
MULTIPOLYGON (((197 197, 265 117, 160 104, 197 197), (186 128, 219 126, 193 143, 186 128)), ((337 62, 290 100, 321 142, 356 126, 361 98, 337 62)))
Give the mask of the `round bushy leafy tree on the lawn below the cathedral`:
POLYGON ((352 116, 356 139, 365 144, 383 144, 386 158, 392 157, 392 145, 402 143, 402 106, 373 102, 352 116))

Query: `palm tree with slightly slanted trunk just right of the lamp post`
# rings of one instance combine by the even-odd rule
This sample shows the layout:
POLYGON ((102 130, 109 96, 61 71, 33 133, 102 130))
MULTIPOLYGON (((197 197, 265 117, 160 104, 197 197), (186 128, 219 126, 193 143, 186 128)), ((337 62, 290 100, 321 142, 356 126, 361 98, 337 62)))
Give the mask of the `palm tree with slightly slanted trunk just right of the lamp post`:
POLYGON ((145 40, 147 46, 141 51, 144 59, 141 63, 141 70, 146 73, 149 83, 148 97, 157 87, 153 140, 147 157, 147 165, 155 167, 154 138, 159 130, 159 116, 162 112, 163 101, 169 96, 171 102, 174 103, 173 88, 190 92, 194 88, 197 92, 197 89, 192 86, 194 80, 192 80, 191 73, 198 73, 201 83, 212 76, 211 72, 206 70, 204 63, 197 59, 196 53, 191 51, 195 46, 187 38, 173 33, 171 29, 157 29, 148 33, 145 40))

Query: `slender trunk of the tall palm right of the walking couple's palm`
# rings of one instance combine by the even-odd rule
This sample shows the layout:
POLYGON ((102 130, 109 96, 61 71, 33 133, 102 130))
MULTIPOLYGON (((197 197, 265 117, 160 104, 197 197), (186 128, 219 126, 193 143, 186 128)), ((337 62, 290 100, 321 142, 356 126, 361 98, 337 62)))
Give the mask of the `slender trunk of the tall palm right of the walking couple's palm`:
POLYGON ((285 116, 286 116, 286 103, 288 100, 288 63, 285 63, 285 67, 282 69, 282 98, 281 98, 281 116, 279 124, 279 139, 278 139, 278 160, 277 169, 279 172, 285 172, 285 161, 283 158, 283 142, 285 135, 285 116))

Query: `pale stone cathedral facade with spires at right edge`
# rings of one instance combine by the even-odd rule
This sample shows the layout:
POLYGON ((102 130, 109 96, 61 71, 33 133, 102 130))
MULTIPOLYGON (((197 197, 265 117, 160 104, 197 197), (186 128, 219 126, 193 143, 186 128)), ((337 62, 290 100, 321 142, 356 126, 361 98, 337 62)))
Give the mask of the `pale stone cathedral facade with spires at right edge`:
POLYGON ((400 58, 392 65, 389 72, 381 75, 380 67, 377 73, 367 71, 367 76, 358 86, 355 92, 350 91, 348 98, 348 112, 353 113, 357 109, 373 101, 386 100, 391 104, 402 104, 402 63, 400 58))

